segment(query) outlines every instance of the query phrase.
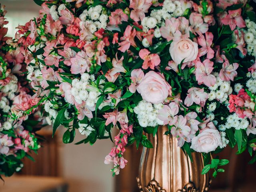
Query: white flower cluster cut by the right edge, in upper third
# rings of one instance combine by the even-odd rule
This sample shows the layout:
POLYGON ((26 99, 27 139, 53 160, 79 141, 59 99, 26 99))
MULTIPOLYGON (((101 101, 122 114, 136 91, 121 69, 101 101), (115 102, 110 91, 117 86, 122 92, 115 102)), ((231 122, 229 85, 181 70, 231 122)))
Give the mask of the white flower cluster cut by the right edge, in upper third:
POLYGON ((252 56, 256 56, 256 23, 245 20, 248 30, 244 34, 244 40, 247 44, 247 53, 252 56))

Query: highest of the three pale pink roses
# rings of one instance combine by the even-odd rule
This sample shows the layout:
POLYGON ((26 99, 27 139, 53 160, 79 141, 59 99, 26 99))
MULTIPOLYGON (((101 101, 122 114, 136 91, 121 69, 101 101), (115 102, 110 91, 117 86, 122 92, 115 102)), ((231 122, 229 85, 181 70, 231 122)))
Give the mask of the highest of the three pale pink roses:
POLYGON ((198 55, 198 44, 189 38, 175 40, 171 43, 170 54, 177 64, 194 61, 198 55))

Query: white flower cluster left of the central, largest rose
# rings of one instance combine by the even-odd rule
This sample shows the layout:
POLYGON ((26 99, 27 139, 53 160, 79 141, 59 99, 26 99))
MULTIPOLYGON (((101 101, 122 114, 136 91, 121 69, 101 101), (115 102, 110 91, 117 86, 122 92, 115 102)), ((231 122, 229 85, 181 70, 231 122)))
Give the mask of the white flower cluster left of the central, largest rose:
POLYGON ((86 102, 88 107, 93 107, 96 104, 100 92, 92 90, 88 91, 86 86, 90 84, 90 81, 94 80, 94 75, 89 75, 88 73, 82 74, 80 80, 72 80, 71 94, 78 104, 82 104, 83 101, 86 102))

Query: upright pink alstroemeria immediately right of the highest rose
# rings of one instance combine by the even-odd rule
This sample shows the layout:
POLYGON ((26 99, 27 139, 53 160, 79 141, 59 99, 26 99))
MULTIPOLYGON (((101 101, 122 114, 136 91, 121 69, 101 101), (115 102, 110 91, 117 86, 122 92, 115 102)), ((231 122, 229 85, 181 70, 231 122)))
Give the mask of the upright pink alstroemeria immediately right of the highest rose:
POLYGON ((214 57, 214 50, 211 48, 212 46, 212 40, 213 40, 213 34, 211 32, 206 32, 205 37, 203 35, 200 35, 198 37, 198 44, 202 46, 202 48, 199 49, 199 57, 205 55, 207 53, 207 58, 212 59, 214 57))

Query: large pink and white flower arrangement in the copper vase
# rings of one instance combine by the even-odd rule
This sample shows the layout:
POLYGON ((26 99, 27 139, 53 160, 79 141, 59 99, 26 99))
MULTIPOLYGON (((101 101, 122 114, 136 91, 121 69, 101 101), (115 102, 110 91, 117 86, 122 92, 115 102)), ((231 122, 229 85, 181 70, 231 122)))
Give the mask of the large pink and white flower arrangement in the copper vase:
MULTIPOLYGON (((125 147, 166 135, 213 176, 228 144, 256 161, 256 17, 250 0, 35 0, 40 16, 15 43, 28 79, 64 143, 110 138, 105 163, 119 174, 125 147)), ((255 4, 254 4, 255 6, 255 4)), ((36 105, 37 107, 37 105, 36 105)), ((33 108, 33 106, 32 106, 33 108)), ((26 114, 20 109, 18 114, 26 114)))

